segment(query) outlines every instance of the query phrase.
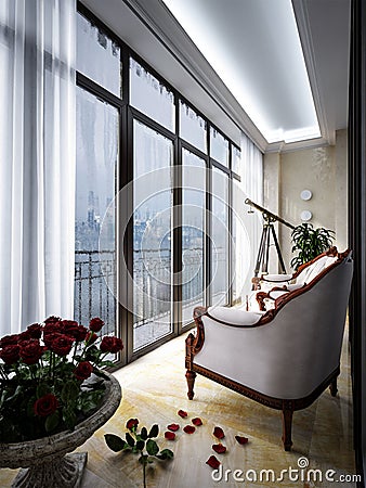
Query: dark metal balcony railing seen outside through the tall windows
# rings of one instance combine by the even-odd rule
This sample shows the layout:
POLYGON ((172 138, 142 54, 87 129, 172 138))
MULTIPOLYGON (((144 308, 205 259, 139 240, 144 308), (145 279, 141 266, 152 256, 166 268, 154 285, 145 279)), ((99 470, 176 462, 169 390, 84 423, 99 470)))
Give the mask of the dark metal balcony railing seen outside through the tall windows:
MULTIPOLYGON (((224 260, 222 254, 220 261, 224 260)), ((184 249, 183 265, 182 319, 186 323, 192 318, 193 307, 204 303, 201 249, 184 249)), ((135 348, 171 331, 170 270, 170 252, 151 249, 134 253, 135 348)), ((114 251, 76 251, 75 319, 87 325, 90 318, 101 317, 106 324, 105 333, 116 334, 116 283, 114 251)))

